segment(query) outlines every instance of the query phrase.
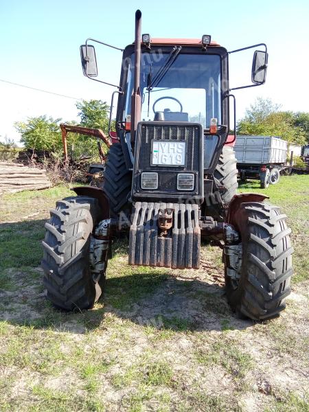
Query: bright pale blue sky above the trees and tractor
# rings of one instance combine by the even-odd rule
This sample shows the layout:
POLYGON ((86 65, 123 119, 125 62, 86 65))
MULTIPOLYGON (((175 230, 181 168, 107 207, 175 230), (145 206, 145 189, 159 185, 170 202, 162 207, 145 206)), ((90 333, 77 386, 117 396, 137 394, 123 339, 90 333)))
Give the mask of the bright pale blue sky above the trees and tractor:
MULTIPOLYGON (((88 37, 121 48, 132 43, 137 8, 141 32, 152 37, 211 34, 228 51, 267 44, 266 84, 234 92, 238 119, 258 96, 282 104, 282 110, 309 111, 308 0, 92 0, 89 5, 80 0, 0 0, 0 141, 7 136, 18 142, 14 122, 27 117, 78 120, 76 99, 110 104, 113 87, 82 75, 79 46, 88 37)), ((95 48, 100 79, 119 84, 122 53, 95 48)), ((252 58, 253 50, 230 56, 230 87, 250 82, 252 58)))

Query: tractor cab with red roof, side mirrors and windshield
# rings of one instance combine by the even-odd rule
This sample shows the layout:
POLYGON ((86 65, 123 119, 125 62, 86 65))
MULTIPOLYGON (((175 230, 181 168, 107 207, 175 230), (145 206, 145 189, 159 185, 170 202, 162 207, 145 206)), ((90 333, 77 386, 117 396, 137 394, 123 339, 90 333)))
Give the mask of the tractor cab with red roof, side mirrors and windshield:
MULTIPOLYGON (((260 43, 227 52, 225 47, 211 41, 208 34, 200 39, 152 38, 150 34, 141 35, 139 13, 135 34, 135 42, 120 49, 123 52, 122 71, 118 90, 113 93, 113 98, 116 93, 119 95, 116 128, 128 169, 133 170, 139 122, 187 122, 201 124, 206 147, 204 169, 213 172, 229 134, 231 98, 234 141, 236 139, 236 103, 230 93, 233 89, 229 88, 229 54, 255 49, 252 84, 236 89, 255 87, 266 80, 266 45, 260 43)), ((80 47, 84 75, 106 83, 96 79, 98 68, 91 41, 106 45, 88 39, 80 47)))

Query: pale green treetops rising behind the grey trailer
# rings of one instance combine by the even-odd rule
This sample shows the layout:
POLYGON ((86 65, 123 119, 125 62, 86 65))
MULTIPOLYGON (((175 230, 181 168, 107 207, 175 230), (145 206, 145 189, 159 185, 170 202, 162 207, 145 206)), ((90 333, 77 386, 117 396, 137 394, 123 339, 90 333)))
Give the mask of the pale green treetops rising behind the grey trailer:
POLYGON ((247 109, 237 125, 238 135, 279 136, 295 144, 306 143, 303 128, 295 125, 295 113, 279 111, 279 105, 271 100, 258 98, 247 109))

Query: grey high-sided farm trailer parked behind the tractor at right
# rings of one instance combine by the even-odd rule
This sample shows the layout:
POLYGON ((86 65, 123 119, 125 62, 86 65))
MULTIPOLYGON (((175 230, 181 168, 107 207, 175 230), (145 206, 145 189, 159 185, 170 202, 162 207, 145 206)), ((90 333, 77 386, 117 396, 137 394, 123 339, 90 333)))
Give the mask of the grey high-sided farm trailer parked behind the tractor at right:
POLYGON ((277 136, 238 136, 234 146, 238 176, 260 180, 261 187, 278 183, 281 174, 290 174, 286 163, 288 142, 277 136))

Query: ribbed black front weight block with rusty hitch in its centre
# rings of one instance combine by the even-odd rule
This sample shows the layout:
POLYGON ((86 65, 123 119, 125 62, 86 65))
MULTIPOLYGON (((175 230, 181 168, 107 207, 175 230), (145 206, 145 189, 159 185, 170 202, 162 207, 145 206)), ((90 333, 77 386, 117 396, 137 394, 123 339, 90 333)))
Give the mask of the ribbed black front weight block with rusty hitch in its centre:
POLYGON ((166 268, 199 268, 201 229, 198 205, 135 203, 128 263, 166 268))

